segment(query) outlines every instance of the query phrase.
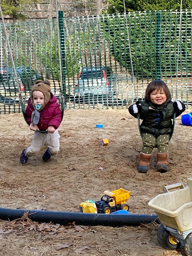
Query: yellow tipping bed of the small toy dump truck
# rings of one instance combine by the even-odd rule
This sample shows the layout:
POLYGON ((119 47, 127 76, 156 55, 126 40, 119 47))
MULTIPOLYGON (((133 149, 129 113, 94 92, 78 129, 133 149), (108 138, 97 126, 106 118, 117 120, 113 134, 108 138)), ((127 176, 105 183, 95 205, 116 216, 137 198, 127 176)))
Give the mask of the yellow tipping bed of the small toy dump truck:
POLYGON ((105 190, 103 194, 109 197, 113 197, 116 204, 123 204, 130 198, 131 191, 119 188, 113 191, 105 190))

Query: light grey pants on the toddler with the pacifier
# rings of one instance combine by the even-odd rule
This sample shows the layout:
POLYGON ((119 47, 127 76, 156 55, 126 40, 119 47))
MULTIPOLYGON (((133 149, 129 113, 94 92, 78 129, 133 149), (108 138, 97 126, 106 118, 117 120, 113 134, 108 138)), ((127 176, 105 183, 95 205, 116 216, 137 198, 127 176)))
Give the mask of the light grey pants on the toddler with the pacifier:
POLYGON ((43 146, 50 148, 51 155, 56 155, 59 152, 59 133, 58 129, 54 133, 39 133, 35 132, 31 146, 26 150, 28 157, 37 154, 43 146))

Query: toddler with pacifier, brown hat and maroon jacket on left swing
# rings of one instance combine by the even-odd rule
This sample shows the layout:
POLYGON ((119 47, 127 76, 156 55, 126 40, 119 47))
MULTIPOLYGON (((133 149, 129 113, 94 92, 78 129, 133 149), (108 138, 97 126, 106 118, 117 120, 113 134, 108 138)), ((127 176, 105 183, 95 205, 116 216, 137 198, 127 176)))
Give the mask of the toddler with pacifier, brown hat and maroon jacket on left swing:
POLYGON ((25 148, 20 155, 20 163, 26 164, 28 159, 37 154, 43 146, 48 146, 42 155, 45 162, 59 152, 58 127, 62 120, 62 112, 56 97, 51 93, 49 80, 37 80, 31 89, 28 100, 26 119, 29 128, 34 131, 31 146, 25 148))

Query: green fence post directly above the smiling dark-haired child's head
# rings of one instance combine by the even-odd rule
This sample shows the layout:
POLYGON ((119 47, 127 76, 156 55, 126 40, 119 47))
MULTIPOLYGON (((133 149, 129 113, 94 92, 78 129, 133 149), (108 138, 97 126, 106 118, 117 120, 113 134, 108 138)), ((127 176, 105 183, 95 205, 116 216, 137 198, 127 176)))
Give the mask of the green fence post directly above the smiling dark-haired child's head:
POLYGON ((161 14, 156 13, 156 30, 155 30, 155 69, 156 79, 161 79, 161 14))

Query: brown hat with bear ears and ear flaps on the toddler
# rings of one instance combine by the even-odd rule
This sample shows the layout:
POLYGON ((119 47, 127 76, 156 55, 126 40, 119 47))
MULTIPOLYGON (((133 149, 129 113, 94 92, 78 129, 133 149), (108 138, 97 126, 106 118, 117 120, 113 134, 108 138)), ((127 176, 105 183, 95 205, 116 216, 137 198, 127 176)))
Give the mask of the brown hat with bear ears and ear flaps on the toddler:
POLYGON ((40 91, 41 93, 44 94, 44 105, 41 106, 40 110, 43 110, 46 106, 46 104, 49 102, 50 97, 51 97, 51 82, 50 80, 37 80, 34 84, 34 86, 31 88, 31 100, 33 103, 33 91, 40 91))

